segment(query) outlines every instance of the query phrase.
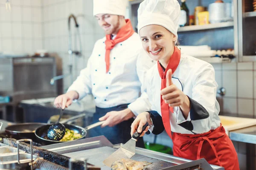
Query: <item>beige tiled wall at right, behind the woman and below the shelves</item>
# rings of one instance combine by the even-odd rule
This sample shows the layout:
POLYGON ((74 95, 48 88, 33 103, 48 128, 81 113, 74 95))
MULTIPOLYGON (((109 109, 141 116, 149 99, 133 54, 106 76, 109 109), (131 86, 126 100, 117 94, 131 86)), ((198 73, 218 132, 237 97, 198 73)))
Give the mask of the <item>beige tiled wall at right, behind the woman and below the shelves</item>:
MULTIPOLYGON (((221 115, 256 118, 256 62, 223 63, 213 65, 218 84, 226 88, 224 97, 218 96, 221 115), (220 74, 221 72, 221 74, 220 74)), ((221 87, 221 86, 219 86, 221 87)), ((239 158, 240 170, 246 170, 245 143, 233 141, 239 158)))

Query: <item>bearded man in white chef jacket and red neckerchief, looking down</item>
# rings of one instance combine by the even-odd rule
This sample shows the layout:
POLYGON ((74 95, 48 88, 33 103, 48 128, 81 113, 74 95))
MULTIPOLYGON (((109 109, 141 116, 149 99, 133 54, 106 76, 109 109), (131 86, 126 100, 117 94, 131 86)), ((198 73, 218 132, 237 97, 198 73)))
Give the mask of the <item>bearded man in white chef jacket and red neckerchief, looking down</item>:
MULTIPOLYGON (((105 122, 89 130, 89 137, 104 135, 112 144, 127 142, 134 116, 151 107, 141 86, 154 63, 146 53, 141 55, 140 37, 124 17, 126 6, 127 0, 93 0, 93 15, 105 37, 96 41, 87 67, 67 93, 55 99, 55 106, 64 109, 73 100, 92 94, 96 103, 93 123, 105 122)), ((144 147, 143 138, 137 146, 144 147)))

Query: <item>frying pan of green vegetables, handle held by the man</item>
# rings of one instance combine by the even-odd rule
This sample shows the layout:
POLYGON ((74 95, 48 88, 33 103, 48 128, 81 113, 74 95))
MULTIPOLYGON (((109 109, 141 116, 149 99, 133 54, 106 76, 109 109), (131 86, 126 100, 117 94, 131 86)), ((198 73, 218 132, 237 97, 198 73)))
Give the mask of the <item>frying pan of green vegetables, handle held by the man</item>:
MULTIPOLYGON (((79 127, 79 126, 75 126, 75 125, 71 125, 71 124, 64 124, 64 126, 69 129, 69 130, 73 130, 74 133, 79 133, 82 135, 81 138, 78 138, 78 139, 74 139, 75 140, 79 140, 79 139, 82 139, 82 138, 85 138, 85 136, 87 135, 87 130, 90 130, 94 127, 97 127, 97 126, 100 126, 101 124, 103 124, 105 121, 99 121, 95 124, 91 124, 85 128, 83 127, 79 127)), ((68 142, 68 141, 52 141, 52 140, 49 140, 48 137, 47 137, 47 132, 48 132, 48 129, 49 127, 51 126, 52 124, 47 124, 47 125, 44 125, 44 126, 41 126, 41 127, 38 127, 36 130, 35 130, 35 136, 37 138, 37 141, 42 144, 42 145, 49 145, 49 144, 58 144, 58 143, 62 143, 62 142, 68 142)))

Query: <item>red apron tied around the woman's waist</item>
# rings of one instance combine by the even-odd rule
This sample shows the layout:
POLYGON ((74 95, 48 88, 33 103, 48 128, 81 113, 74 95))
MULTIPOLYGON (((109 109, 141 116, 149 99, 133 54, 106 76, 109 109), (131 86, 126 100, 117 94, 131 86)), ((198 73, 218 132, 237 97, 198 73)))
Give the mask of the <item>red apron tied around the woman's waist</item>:
POLYGON ((202 134, 173 133, 173 155, 190 160, 205 158, 225 170, 239 170, 235 147, 221 125, 202 134))

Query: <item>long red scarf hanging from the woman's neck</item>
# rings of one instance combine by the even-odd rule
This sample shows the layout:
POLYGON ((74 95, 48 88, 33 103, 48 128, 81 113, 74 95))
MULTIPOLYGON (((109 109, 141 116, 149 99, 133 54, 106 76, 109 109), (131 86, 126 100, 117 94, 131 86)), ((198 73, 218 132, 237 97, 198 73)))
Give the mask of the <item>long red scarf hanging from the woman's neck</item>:
MULTIPOLYGON (((180 50, 175 46, 174 52, 172 56, 169 59, 169 63, 166 67, 166 70, 163 71, 162 66, 159 62, 157 62, 157 68, 158 72, 161 78, 161 90, 166 88, 166 74, 169 69, 172 69, 172 74, 177 69, 178 65, 180 63, 180 50)), ((172 130, 171 130, 171 124, 170 124, 170 117, 169 117, 169 110, 173 113, 173 107, 169 107, 169 104, 166 104, 165 101, 162 99, 161 95, 161 114, 163 119, 163 126, 167 132, 167 134, 172 138, 172 130)))

